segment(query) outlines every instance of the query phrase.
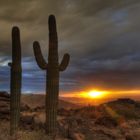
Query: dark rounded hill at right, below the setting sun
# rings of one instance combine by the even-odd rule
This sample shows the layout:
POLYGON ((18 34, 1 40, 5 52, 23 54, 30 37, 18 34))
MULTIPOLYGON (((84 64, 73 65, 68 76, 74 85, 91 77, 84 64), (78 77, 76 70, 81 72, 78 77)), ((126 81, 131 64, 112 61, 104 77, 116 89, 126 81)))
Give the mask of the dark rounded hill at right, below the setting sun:
POLYGON ((115 101, 111 101, 100 105, 101 110, 105 110, 106 113, 116 114, 116 116, 124 117, 127 119, 140 119, 140 102, 134 101, 128 98, 120 98, 115 101))

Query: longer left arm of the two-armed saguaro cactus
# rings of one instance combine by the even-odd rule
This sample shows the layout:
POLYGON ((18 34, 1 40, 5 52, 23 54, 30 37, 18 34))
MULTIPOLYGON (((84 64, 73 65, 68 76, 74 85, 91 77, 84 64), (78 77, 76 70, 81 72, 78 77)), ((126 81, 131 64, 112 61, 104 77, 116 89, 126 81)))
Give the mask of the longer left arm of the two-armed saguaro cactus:
POLYGON ((40 45, 37 41, 35 41, 33 43, 33 48, 34 48, 35 59, 36 59, 38 66, 43 70, 47 69, 47 63, 46 63, 45 59, 43 58, 43 55, 42 55, 42 52, 40 49, 40 45))

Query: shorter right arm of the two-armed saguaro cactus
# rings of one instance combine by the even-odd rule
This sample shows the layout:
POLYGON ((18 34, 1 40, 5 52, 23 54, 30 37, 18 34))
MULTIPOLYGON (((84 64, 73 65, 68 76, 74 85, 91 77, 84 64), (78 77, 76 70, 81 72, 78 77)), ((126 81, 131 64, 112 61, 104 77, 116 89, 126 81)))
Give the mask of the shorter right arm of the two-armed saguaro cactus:
POLYGON ((70 61, 70 55, 67 53, 64 54, 61 64, 59 65, 59 71, 64 71, 69 64, 69 61, 70 61))

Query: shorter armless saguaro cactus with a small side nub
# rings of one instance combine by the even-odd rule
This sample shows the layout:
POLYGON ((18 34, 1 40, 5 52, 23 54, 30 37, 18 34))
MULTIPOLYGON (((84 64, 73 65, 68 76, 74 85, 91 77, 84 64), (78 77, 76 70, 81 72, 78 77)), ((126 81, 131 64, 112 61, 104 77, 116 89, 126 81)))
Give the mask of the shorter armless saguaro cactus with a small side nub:
POLYGON ((18 27, 12 29, 12 62, 10 78, 10 135, 15 135, 20 121, 20 96, 21 96, 21 43, 18 27))

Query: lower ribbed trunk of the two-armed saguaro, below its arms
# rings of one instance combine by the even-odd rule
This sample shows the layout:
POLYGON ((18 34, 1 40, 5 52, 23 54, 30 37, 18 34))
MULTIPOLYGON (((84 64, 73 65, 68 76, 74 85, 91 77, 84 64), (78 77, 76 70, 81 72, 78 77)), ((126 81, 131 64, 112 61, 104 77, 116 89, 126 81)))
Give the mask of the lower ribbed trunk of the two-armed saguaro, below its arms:
POLYGON ((57 107, 59 94, 58 70, 47 70, 47 96, 46 96, 46 132, 56 132, 57 107))

